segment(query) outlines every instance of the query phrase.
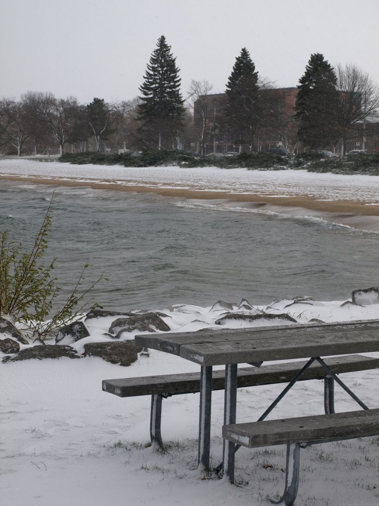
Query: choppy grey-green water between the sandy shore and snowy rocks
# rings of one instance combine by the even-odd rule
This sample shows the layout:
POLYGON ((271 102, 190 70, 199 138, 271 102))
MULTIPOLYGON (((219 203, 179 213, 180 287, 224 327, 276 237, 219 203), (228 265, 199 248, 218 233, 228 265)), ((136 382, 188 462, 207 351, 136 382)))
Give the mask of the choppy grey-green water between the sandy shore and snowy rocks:
MULTIPOLYGON (((52 187, 0 185, 0 231, 30 244, 52 187)), ((105 308, 163 309, 299 295, 346 300, 379 284, 378 245, 378 234, 253 207, 58 187, 49 252, 62 296, 88 262, 86 281, 109 278, 93 290, 105 308)))

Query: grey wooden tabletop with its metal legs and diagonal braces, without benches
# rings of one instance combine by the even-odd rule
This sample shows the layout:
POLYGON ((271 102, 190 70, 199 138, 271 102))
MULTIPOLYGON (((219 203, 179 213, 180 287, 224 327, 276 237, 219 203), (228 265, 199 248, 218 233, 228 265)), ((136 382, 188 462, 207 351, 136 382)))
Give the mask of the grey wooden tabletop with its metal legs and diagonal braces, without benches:
MULTIPOLYGON (((292 384, 317 361, 357 403, 367 409, 322 357, 379 351, 379 320, 333 324, 255 327, 242 330, 207 330, 136 335, 135 343, 177 355, 200 365, 199 465, 209 468, 212 367, 225 366, 224 426, 235 424, 238 364, 259 367, 266 361, 308 358, 292 384)), ((291 385, 292 386, 292 385, 291 385)), ((291 387, 290 387, 291 388, 291 387)), ((288 389, 285 389, 288 391, 288 389)), ((286 392, 283 393, 283 395, 286 392)), ((282 396, 279 396, 280 398, 282 396)), ((273 405, 277 403, 274 401, 273 405)), ((269 410, 272 409, 270 406, 269 410)), ((379 433, 379 428, 378 428, 379 433)), ((233 480, 235 444, 224 440, 224 472, 233 480)))

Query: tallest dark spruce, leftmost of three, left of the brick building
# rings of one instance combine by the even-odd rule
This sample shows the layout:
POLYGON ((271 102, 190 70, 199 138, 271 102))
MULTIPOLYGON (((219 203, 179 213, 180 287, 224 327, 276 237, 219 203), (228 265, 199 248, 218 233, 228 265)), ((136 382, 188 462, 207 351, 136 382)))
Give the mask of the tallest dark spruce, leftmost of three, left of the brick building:
POLYGON ((148 63, 145 81, 139 88, 142 96, 139 97, 137 119, 141 121, 140 132, 150 147, 176 146, 184 113, 178 74, 176 58, 162 35, 148 63))

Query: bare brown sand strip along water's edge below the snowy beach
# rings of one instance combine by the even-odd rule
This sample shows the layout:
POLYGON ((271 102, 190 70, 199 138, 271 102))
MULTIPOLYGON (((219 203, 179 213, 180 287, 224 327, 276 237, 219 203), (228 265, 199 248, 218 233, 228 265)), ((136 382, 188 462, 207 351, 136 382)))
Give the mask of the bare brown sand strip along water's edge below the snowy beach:
MULTIPOLYGON (((158 186, 156 183, 133 182, 121 184, 112 180, 93 181, 91 179, 14 176, 0 175, 3 181, 20 181, 48 186, 87 187, 94 190, 124 191, 129 193, 154 193, 163 197, 183 199, 186 201, 218 201, 230 207, 251 207, 263 212, 319 218, 330 223, 345 225, 358 230, 379 232, 379 204, 367 205, 356 200, 322 200, 306 193, 302 195, 278 195, 260 193, 233 193, 227 190, 202 190, 199 188, 182 188, 158 186)), ((163 183, 164 184, 164 183, 163 183)))

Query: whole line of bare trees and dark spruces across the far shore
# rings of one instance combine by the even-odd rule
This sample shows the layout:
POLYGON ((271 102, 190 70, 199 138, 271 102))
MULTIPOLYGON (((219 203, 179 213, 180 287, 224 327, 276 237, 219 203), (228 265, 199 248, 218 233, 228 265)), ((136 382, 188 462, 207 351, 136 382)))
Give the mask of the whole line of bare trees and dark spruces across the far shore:
POLYGON ((295 111, 283 107, 280 89, 262 79, 246 48, 236 57, 225 94, 212 95, 208 81, 193 80, 188 97, 180 93, 179 68, 165 37, 153 51, 140 96, 79 104, 52 93, 28 91, 20 100, 0 100, 0 151, 30 154, 59 151, 179 149, 205 154, 222 136, 239 152, 259 151, 268 139, 308 150, 379 134, 379 93, 356 65, 336 68, 312 54, 299 79, 295 111), (218 100, 216 100, 218 98, 218 100), (193 113, 190 107, 192 105, 193 113))

